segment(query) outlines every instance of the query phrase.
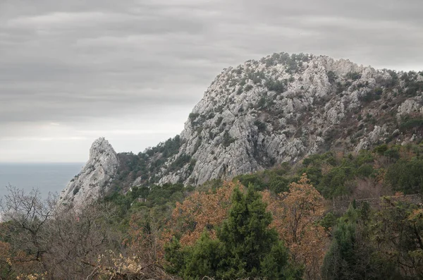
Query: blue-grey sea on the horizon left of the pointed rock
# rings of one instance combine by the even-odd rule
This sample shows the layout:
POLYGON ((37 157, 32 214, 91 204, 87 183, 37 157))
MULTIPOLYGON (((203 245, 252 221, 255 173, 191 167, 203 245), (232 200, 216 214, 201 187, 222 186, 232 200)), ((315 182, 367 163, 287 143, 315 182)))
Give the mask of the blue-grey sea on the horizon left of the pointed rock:
POLYGON ((6 185, 30 192, 38 188, 42 197, 49 192, 60 193, 78 174, 84 164, 0 164, 0 197, 6 195, 6 185))

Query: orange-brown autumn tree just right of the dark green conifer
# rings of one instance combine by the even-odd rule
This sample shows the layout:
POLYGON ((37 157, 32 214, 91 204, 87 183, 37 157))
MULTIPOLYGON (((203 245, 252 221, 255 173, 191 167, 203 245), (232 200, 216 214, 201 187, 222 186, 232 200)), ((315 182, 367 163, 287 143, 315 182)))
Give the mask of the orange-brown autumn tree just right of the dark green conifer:
POLYGON ((291 183, 289 192, 271 197, 264 192, 263 200, 274 216, 271 226, 278 231, 295 262, 305 264, 305 277, 318 279, 320 267, 329 244, 329 237, 317 221, 324 213, 324 199, 302 175, 291 183))

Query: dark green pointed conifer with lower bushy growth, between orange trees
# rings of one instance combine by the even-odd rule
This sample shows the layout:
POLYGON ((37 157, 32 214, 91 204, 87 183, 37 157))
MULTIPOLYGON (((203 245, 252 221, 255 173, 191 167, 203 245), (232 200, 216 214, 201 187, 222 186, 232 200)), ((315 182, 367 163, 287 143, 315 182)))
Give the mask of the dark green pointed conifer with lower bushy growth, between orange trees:
POLYGON ((269 228, 271 220, 259 193, 252 187, 246 194, 235 188, 228 219, 216 239, 204 233, 195 245, 185 248, 173 241, 166 247, 166 260, 184 279, 288 279, 298 271, 288 264, 288 250, 269 228))

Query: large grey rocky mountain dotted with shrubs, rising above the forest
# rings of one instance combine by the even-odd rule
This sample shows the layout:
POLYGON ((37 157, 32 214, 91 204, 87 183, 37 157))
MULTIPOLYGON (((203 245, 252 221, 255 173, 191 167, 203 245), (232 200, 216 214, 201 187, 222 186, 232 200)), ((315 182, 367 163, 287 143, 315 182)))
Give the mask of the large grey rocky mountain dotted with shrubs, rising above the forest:
MULTIPOLYGON (((419 142, 422 92, 422 72, 376 70, 308 54, 246 61, 215 78, 180 135, 139 154, 117 154, 118 163, 110 159, 118 166, 108 170, 108 188, 200 185, 327 150, 419 142)), ((103 175, 97 169, 88 174, 98 195, 93 178, 103 175)), ((87 192, 84 180, 71 182, 63 197, 77 185, 87 192)))

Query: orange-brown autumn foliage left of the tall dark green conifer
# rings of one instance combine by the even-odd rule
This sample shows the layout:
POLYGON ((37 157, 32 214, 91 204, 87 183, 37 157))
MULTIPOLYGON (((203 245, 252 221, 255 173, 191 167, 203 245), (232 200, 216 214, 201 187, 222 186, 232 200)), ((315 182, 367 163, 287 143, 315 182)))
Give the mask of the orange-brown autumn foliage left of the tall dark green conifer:
POLYGON ((235 188, 243 190, 244 186, 239 182, 225 182, 217 190, 209 190, 207 193, 196 191, 183 203, 176 203, 164 239, 169 241, 171 236, 180 236, 182 245, 192 245, 204 229, 210 231, 212 238, 216 236, 214 228, 228 217, 235 188))

